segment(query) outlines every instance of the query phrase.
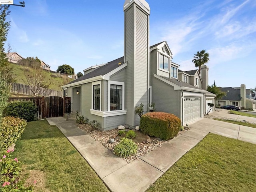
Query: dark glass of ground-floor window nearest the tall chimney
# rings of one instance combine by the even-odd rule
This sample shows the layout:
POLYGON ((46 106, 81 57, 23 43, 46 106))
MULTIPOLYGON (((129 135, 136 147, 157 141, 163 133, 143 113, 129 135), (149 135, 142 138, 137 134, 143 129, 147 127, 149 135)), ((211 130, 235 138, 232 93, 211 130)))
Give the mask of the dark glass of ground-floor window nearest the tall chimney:
POLYGON ((121 85, 110 85, 110 110, 122 110, 121 85))

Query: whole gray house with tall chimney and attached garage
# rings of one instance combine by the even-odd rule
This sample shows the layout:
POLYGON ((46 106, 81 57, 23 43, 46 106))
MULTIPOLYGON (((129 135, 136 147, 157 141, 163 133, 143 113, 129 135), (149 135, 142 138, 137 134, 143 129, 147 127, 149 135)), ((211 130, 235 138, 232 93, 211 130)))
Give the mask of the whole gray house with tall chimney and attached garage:
MULTIPOLYGON (((62 86, 71 111, 97 120, 102 130, 140 124, 136 106, 151 102, 156 111, 173 113, 183 125, 203 117, 215 94, 206 91, 208 67, 179 71, 166 41, 149 47, 150 8, 145 0, 124 4, 124 57, 84 70, 84 76, 62 86), (187 78, 185 78, 187 76, 187 78)), ((214 109, 212 109, 214 110, 214 109)))

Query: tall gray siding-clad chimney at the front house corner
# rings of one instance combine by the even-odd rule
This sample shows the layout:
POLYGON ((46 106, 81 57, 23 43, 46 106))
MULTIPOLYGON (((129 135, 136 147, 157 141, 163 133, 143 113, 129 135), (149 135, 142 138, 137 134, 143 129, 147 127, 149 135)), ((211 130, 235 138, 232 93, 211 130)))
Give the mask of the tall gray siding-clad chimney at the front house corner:
POLYGON ((149 15, 145 0, 125 0, 124 3, 124 62, 126 67, 125 106, 126 124, 140 124, 135 107, 148 104, 149 15))

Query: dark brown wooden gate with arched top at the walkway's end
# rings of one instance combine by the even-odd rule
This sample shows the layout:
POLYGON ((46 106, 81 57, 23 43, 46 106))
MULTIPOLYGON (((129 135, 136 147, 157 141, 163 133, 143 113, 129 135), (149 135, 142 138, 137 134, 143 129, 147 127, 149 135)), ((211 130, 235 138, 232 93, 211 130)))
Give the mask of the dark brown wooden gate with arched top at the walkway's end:
POLYGON ((63 98, 52 96, 46 97, 43 101, 43 117, 62 117, 63 116, 63 98))

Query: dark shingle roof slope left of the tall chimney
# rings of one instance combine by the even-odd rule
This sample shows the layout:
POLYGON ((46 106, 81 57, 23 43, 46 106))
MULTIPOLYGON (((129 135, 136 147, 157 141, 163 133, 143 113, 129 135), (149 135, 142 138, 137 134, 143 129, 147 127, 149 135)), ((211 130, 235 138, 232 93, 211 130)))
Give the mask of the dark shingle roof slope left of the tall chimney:
POLYGON ((86 80, 86 79, 90 79, 92 77, 96 77, 96 76, 100 76, 100 75, 106 75, 109 72, 111 72, 112 70, 121 66, 122 64, 124 64, 124 57, 120 57, 116 60, 110 61, 110 62, 108 62, 108 64, 106 64, 100 68, 96 68, 94 71, 92 71, 88 74, 85 74, 84 76, 70 82, 69 84, 79 82, 82 80, 86 80), (119 64, 119 63, 121 63, 121 64, 119 64))

